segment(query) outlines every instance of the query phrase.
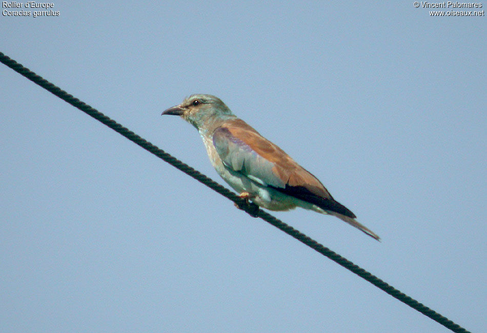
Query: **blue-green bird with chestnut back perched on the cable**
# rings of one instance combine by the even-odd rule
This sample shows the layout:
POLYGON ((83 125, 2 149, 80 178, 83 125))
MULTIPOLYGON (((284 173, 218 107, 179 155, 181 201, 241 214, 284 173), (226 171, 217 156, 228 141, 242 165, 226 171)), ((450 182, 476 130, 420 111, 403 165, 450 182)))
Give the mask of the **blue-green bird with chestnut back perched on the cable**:
POLYGON ((194 94, 162 115, 180 116, 198 130, 216 172, 247 202, 271 211, 302 207, 332 215, 380 240, 315 176, 237 118, 218 97, 194 94))

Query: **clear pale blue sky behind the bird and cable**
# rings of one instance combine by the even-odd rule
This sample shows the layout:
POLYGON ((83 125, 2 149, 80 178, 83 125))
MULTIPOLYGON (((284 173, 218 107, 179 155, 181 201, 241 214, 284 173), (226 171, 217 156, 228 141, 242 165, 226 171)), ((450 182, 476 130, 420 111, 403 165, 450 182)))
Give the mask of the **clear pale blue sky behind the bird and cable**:
MULTIPOLYGON (((220 97, 382 242, 277 217, 485 329, 485 16, 412 1, 53 10, 0 16, 0 51, 224 183, 198 133, 160 116, 220 97)), ((0 331, 448 331, 4 65, 0 85, 0 331)))

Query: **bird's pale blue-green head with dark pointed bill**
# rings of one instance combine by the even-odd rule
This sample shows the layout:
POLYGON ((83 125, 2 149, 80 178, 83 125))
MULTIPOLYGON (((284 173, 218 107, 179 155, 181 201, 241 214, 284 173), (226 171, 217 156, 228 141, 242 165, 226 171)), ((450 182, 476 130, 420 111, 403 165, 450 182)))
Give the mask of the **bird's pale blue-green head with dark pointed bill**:
POLYGON ((218 97, 206 94, 191 95, 179 105, 164 111, 165 114, 181 116, 199 131, 210 129, 215 121, 235 117, 218 97))

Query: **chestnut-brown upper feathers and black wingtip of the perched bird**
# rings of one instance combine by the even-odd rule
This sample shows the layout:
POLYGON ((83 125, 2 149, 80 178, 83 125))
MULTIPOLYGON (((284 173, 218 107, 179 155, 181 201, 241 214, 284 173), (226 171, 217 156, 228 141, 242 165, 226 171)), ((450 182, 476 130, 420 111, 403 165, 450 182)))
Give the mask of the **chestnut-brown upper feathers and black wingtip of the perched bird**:
POLYGON ((276 190, 303 201, 314 203, 324 210, 355 218, 355 215, 347 207, 333 199, 315 176, 302 168, 277 145, 261 136, 245 121, 232 119, 225 122, 222 127, 227 128, 233 136, 248 144, 257 154, 274 164, 272 171, 286 183, 285 188, 276 188, 276 190))

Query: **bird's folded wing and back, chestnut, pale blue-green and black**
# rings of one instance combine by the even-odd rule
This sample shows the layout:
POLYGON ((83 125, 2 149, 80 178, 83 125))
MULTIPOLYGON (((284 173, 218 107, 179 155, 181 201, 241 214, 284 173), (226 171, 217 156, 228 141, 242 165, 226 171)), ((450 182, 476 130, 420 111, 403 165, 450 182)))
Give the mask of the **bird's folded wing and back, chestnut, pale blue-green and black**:
POLYGON ((224 165, 234 172, 324 210, 355 218, 315 176, 245 121, 226 121, 215 130, 213 144, 224 165))

